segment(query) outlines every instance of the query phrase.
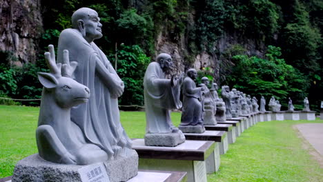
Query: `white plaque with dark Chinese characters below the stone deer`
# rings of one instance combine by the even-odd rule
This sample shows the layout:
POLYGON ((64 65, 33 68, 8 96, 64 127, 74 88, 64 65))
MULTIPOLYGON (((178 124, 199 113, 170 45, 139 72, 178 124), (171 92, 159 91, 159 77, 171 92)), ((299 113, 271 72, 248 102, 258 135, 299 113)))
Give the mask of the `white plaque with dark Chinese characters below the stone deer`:
POLYGON ((82 182, 110 182, 103 163, 86 165, 78 171, 82 182))

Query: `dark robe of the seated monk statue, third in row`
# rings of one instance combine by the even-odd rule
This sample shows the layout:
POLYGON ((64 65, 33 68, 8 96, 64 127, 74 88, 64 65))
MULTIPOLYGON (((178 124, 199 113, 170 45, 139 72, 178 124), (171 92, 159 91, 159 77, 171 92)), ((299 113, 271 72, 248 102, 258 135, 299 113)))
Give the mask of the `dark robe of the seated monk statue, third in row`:
POLYGON ((190 77, 185 77, 182 88, 184 104, 181 125, 203 124, 201 88, 196 88, 195 82, 190 77))

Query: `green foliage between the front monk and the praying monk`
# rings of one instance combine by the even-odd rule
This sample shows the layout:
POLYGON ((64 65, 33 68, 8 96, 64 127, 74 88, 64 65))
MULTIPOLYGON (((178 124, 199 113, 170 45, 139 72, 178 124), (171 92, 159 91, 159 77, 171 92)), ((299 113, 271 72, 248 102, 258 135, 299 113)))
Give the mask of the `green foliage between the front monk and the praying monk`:
POLYGON ((119 104, 144 105, 143 80, 150 58, 144 54, 139 45, 121 45, 117 53, 117 73, 125 85, 119 104))

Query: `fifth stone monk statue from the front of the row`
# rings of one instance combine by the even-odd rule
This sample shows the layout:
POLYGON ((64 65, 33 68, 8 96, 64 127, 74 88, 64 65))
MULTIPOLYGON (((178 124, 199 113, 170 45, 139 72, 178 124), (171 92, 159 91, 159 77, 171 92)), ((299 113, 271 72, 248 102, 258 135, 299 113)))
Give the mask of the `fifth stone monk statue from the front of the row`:
POLYGON ((226 121, 226 104, 222 99, 219 98, 217 89, 217 83, 212 83, 210 91, 213 94, 213 98, 215 98, 215 105, 217 107, 217 111, 215 112, 215 119, 216 121, 226 121))

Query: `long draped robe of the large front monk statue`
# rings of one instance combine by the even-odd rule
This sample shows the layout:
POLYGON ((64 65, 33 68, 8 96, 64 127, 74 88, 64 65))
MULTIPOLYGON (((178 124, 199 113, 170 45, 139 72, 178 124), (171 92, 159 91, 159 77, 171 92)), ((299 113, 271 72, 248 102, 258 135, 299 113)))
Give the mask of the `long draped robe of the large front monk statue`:
POLYGON ((110 73, 108 79, 120 83, 121 79, 104 52, 94 42, 88 43, 78 30, 69 28, 61 32, 57 62, 63 61, 63 50, 69 51, 70 62, 78 63, 75 80, 90 89, 89 101, 72 108, 71 121, 79 125, 90 143, 107 152, 109 158, 124 154, 131 148, 131 141, 120 123, 118 100, 111 97, 113 88, 103 81, 102 77, 107 75, 100 75, 97 67, 104 67, 110 73))

